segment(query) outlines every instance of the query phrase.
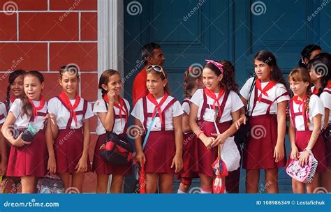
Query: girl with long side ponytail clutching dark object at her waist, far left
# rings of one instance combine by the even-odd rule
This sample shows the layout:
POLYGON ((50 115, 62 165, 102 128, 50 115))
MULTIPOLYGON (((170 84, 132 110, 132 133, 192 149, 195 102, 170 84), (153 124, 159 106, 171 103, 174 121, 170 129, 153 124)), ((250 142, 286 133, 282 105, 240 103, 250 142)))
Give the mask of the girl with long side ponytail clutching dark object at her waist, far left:
POLYGON ((1 128, 3 136, 12 144, 8 160, 7 176, 21 178, 22 193, 35 191, 36 178, 43 177, 46 169, 54 173, 56 165, 47 159, 48 148, 52 145, 50 121, 45 126, 47 103, 41 91, 44 88, 44 77, 38 71, 24 74, 24 93, 11 105, 7 119, 1 128), (34 123, 38 130, 32 142, 22 139, 22 133, 34 123), (17 131, 13 129, 18 129, 17 131), (46 130, 44 130, 46 128, 46 130))

